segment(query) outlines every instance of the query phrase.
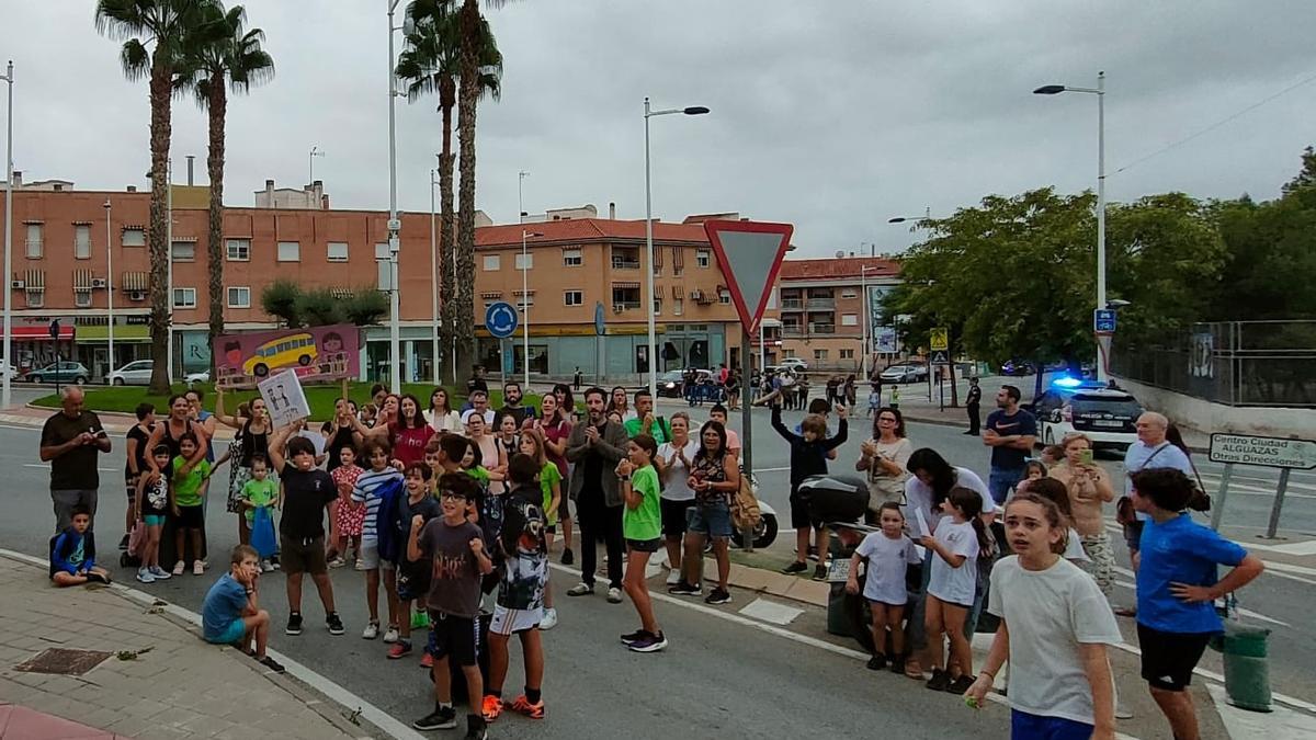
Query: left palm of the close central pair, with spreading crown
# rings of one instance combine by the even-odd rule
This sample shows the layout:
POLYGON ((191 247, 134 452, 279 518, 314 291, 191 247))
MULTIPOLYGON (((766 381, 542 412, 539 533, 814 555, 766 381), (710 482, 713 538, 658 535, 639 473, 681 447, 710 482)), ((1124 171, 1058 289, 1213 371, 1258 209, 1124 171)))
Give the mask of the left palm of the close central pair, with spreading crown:
MULTIPOLYGON (((459 72, 459 24, 453 12, 451 0, 413 0, 407 7, 407 14, 415 21, 415 30, 407 37, 407 49, 397 59, 396 74, 407 82, 407 97, 416 101, 424 95, 438 93, 438 112, 442 116, 442 150, 438 157, 438 190, 441 200, 438 254, 442 259, 442 321, 440 325, 440 345, 447 350, 453 346, 454 328, 458 325, 457 307, 470 305, 474 294, 471 283, 457 279, 457 265, 447 255, 455 244, 453 233, 453 108, 457 105, 457 76, 459 72), (463 290, 463 284, 467 286, 463 290)), ((482 18, 480 95, 499 99, 503 57, 497 50, 488 22, 482 18)), ((470 255, 474 261, 474 253, 470 255)), ((472 273, 474 274, 474 273, 472 273)), ((470 319, 472 311, 467 308, 470 319)), ((438 358, 436 358, 437 361, 438 358)), ((455 369, 457 358, 450 357, 450 367, 455 369)))

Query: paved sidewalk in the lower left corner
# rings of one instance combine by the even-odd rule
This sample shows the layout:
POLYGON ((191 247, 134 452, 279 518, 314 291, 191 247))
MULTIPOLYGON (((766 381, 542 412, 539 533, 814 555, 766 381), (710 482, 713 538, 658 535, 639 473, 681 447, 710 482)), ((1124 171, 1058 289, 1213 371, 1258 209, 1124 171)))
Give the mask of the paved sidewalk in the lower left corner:
POLYGON ((55 589, 43 568, 0 553, 0 737, 388 736, 361 718, 349 722, 350 712, 299 679, 203 643, 195 627, 129 589, 55 589), (53 660, 51 670, 89 668, 17 670, 53 648, 79 653, 53 660))

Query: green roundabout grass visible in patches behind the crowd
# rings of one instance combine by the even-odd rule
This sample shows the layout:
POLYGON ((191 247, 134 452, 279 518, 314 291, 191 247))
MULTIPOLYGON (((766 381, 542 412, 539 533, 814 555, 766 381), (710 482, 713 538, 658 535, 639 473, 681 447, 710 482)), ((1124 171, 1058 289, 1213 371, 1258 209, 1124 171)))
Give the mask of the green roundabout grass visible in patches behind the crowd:
MULTIPOLYGON (((357 402, 358 404, 365 404, 370 400, 370 386, 374 383, 351 383, 347 386, 347 398, 357 402)), ((215 411, 215 386, 211 383, 197 383, 196 388, 205 392, 205 408, 208 411, 215 411)), ((146 392, 143 386, 84 386, 83 387, 87 402, 86 408, 91 411, 117 411, 121 413, 133 413, 137 411, 137 404, 145 402, 155 404, 157 413, 163 415, 167 412, 168 396, 150 395, 146 392)), ((174 392, 180 394, 188 390, 186 384, 178 383, 174 386, 174 392)), ((429 394, 434 390, 434 386, 426 383, 404 383, 403 394, 412 394, 420 399, 422 407, 429 406, 429 394)), ((466 388, 462 388, 462 395, 457 395, 457 391, 447 388, 449 396, 453 399, 453 408, 459 407, 466 402, 466 388)), ((311 419, 316 421, 333 419, 333 406, 338 398, 342 396, 342 388, 338 386, 307 386, 307 403, 311 404, 311 419)), ((224 410, 229 413, 237 411, 240 403, 245 400, 251 400, 259 394, 254 390, 251 391, 229 391, 224 394, 224 410)), ((540 396, 526 395, 526 406, 534 406, 538 408, 540 396)), ((57 394, 50 394, 47 396, 41 396, 33 402, 34 406, 43 406, 49 408, 59 408, 59 396, 57 394)), ((490 408, 497 408, 503 406, 503 392, 490 391, 490 408)))

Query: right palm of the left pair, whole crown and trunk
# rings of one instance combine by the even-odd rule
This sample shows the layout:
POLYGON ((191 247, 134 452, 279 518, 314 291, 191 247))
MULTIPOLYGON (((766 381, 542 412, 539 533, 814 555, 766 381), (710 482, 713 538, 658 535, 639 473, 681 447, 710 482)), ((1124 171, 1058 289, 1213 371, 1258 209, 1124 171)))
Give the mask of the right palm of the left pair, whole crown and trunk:
MULTIPOLYGON (((274 76, 274 59, 261 49, 265 32, 246 29, 246 9, 234 5, 228 12, 215 4, 207 11, 195 42, 188 49, 188 68, 183 87, 191 88, 196 103, 209 113, 209 149, 205 166, 211 179, 211 219, 207 250, 209 273, 209 334, 224 333, 224 125, 228 116, 228 88, 247 92, 274 76), (225 84, 228 83, 228 84, 225 84)), ((212 367, 215 358, 211 358, 212 367)))

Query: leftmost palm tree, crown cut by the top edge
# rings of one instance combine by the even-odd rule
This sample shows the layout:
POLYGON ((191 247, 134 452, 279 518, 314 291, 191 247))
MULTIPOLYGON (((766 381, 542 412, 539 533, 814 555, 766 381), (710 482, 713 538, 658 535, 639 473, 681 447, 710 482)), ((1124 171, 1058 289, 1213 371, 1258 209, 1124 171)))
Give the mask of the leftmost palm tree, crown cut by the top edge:
POLYGON ((168 187, 170 120, 174 84, 184 68, 188 40, 200 26, 213 0, 97 0, 96 30, 122 40, 120 63, 130 80, 146 79, 151 104, 151 370, 150 392, 168 394, 170 367, 161 362, 168 356, 170 304, 168 225, 164 223, 168 187), (154 49, 146 45, 154 42, 154 49))

